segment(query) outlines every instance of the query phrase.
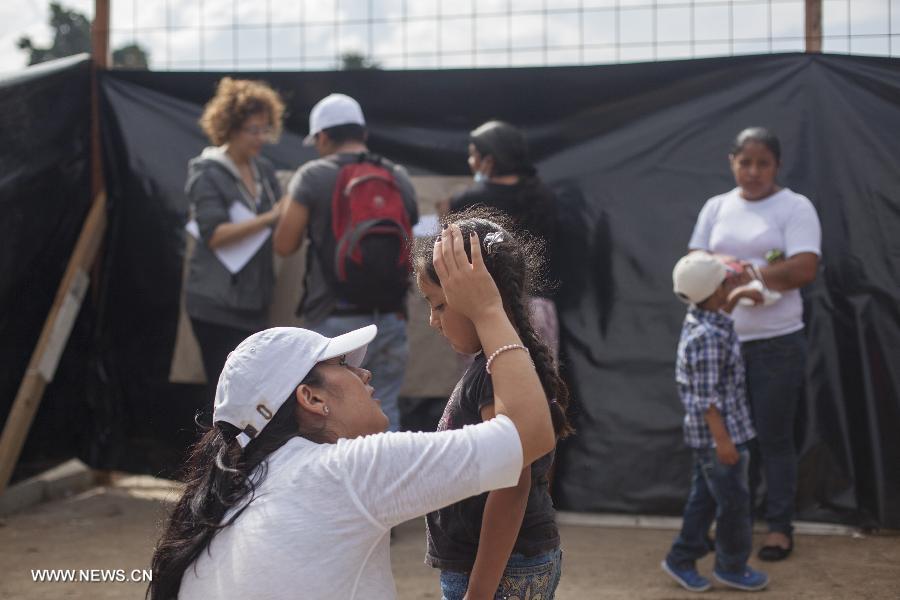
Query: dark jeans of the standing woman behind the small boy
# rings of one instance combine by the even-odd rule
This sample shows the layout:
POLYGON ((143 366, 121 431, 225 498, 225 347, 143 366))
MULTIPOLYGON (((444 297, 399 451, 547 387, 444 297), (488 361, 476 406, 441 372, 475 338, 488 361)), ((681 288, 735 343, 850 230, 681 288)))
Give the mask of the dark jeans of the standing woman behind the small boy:
POLYGON ((794 420, 803 390, 806 336, 803 331, 797 331, 744 342, 741 354, 747 370, 747 396, 757 440, 750 466, 751 494, 757 489, 762 470, 769 531, 791 535, 797 491, 794 420))

